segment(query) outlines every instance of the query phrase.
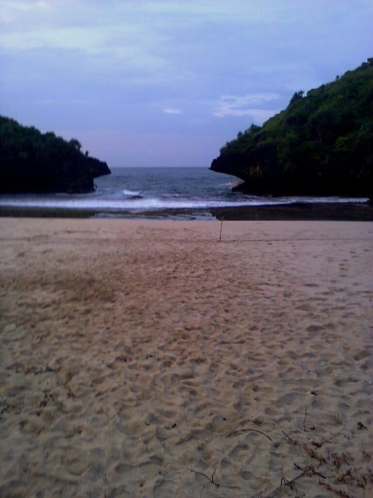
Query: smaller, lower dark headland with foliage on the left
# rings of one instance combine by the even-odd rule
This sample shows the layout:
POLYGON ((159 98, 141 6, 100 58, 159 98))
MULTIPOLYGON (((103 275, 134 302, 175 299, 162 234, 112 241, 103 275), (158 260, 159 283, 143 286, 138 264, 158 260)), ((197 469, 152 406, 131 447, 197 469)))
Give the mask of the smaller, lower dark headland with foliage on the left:
POLYGON ((86 192, 107 164, 84 154, 80 142, 41 133, 0 117, 1 192, 86 192))

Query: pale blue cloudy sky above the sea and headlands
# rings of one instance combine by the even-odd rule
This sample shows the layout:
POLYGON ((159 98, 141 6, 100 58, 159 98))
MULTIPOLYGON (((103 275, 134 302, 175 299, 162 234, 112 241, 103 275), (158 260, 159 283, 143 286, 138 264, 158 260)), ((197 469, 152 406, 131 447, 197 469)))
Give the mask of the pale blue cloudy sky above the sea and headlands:
POLYGON ((0 0, 0 114, 111 167, 209 167, 373 57, 372 26, 372 0, 0 0))

